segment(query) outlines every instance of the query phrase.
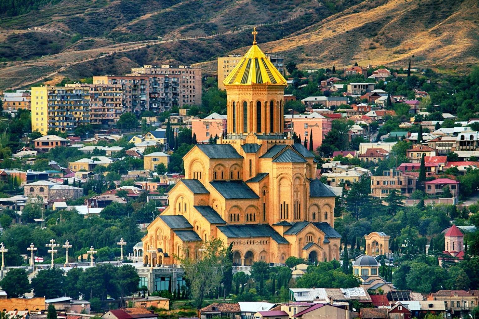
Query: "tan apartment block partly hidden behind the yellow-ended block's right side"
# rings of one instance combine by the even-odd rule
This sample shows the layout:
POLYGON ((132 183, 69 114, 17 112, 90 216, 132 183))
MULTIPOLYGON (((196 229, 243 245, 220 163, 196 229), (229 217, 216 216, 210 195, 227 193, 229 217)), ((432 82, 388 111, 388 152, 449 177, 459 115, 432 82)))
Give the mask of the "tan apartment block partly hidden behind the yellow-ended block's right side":
POLYGON ((119 84, 67 84, 90 90, 90 124, 113 126, 123 113, 123 90, 119 84))

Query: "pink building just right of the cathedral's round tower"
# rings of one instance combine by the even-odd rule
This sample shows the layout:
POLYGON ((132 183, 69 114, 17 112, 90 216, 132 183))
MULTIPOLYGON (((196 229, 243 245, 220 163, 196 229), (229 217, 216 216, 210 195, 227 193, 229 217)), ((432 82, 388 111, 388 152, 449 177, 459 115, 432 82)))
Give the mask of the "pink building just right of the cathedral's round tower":
POLYGON ((296 132, 301 136, 301 142, 308 139, 309 135, 313 134, 313 149, 316 151, 318 146, 321 146, 326 134, 331 131, 332 120, 322 116, 319 113, 313 112, 311 114, 291 114, 285 115, 285 132, 296 132))

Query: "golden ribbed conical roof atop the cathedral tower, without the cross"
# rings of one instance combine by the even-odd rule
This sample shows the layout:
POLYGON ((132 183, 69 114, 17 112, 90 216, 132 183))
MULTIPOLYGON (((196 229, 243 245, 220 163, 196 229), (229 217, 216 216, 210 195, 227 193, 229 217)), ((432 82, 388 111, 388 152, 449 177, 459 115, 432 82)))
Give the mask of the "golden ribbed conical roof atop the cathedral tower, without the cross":
POLYGON ((253 44, 238 65, 225 78, 223 84, 225 86, 251 84, 284 86, 286 80, 258 45, 253 44))

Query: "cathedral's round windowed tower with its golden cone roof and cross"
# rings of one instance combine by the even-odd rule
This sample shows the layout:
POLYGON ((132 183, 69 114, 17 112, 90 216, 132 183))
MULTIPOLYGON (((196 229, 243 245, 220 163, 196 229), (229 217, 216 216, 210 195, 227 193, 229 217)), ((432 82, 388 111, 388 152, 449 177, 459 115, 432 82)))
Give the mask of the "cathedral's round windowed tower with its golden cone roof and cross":
POLYGON ((245 140, 254 134, 259 140, 283 139, 283 97, 286 80, 273 63, 253 45, 225 78, 227 94, 227 139, 245 140))

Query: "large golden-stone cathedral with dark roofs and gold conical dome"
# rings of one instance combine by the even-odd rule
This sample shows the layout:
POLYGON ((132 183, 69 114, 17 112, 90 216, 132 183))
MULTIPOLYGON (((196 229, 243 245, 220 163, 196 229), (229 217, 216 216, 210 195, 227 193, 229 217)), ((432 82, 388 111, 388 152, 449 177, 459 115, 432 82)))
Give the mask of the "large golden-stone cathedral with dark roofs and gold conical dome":
POLYGON ((175 256, 210 238, 233 244, 235 265, 339 260, 335 195, 316 178, 314 155, 285 137, 286 80, 253 35, 223 82, 226 138, 194 145, 183 157, 185 179, 142 239, 144 264, 178 264, 175 256))

